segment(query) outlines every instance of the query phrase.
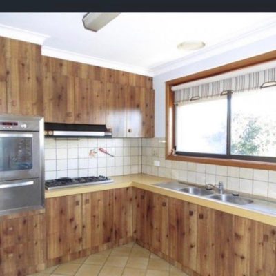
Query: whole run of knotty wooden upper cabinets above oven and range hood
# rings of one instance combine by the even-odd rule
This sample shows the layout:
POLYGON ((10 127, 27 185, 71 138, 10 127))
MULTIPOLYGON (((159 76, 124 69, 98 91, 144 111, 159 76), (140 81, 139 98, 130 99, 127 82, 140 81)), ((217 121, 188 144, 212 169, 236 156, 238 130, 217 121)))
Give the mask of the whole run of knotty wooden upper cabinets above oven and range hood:
POLYGON ((0 112, 46 122, 106 124, 113 137, 153 137, 152 77, 41 56, 0 37, 0 112))

